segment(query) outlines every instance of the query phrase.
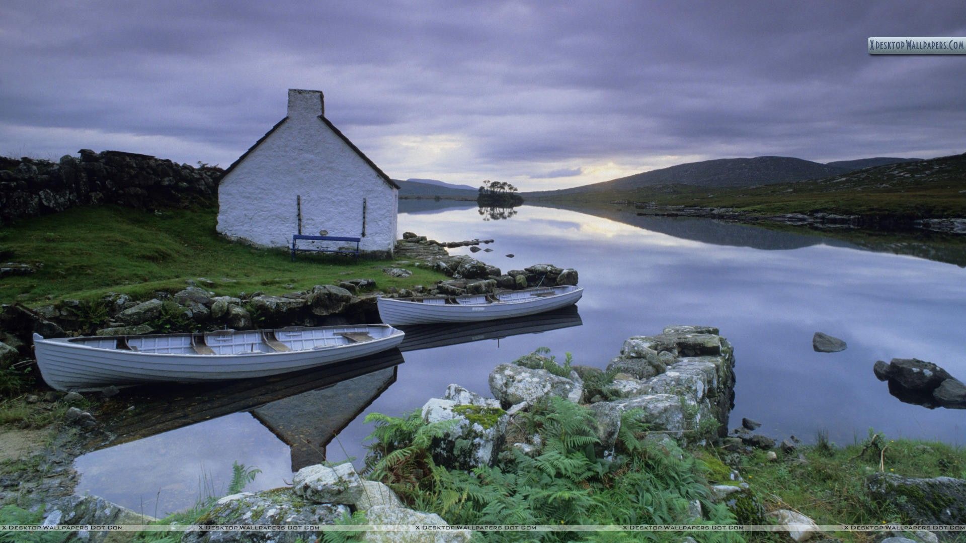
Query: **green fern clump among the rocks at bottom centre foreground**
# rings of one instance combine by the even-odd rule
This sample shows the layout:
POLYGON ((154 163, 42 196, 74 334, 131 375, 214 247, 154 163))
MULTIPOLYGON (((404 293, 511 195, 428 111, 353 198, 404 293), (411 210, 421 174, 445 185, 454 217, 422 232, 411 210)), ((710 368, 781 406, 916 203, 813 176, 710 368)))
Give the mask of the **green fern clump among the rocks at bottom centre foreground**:
MULTIPOLYGON (((447 470, 432 461, 429 447, 440 426, 425 424, 418 413, 406 418, 370 414, 377 421, 370 436, 371 475, 382 480, 413 507, 439 513, 450 524, 666 524, 689 521, 688 508, 699 501, 708 521, 733 524, 724 506, 708 499, 704 465, 675 443, 647 439, 639 411, 623 414, 611 457, 600 447, 590 411, 562 398, 532 406, 529 431, 539 433, 540 454, 529 457, 512 448, 494 467, 447 470)), ((435 423, 439 424, 439 423, 435 423)), ((730 533, 707 534, 707 541, 741 541, 730 533)), ((639 540, 641 534, 611 532, 531 534, 543 541, 639 540), (634 537, 630 537, 633 535, 634 537)), ((653 532, 646 537, 667 540, 653 532)), ((519 533, 484 532, 494 541, 517 540, 519 533)))

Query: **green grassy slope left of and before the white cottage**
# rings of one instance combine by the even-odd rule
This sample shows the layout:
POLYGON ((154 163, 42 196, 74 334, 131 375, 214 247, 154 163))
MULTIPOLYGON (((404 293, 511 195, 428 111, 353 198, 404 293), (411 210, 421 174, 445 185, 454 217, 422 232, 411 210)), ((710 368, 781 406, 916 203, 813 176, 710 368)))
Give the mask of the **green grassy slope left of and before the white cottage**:
POLYGON ((432 285, 445 278, 396 260, 299 255, 231 243, 215 232, 216 210, 141 212, 115 206, 76 208, 22 221, 0 231, 7 260, 43 264, 30 275, 0 279, 0 301, 94 300, 107 292, 137 299, 178 291, 205 277, 219 296, 282 294, 319 284, 372 278, 380 289, 432 285), (412 271, 390 277, 386 267, 412 271))

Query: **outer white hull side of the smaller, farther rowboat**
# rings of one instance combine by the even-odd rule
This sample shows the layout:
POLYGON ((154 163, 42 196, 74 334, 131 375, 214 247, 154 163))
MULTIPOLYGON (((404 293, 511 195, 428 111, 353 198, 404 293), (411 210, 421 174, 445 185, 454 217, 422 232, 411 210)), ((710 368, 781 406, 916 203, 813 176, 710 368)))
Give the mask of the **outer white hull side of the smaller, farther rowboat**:
MULTIPOLYGON (((522 291, 516 291, 516 293, 520 292, 522 291)), ((437 304, 380 298, 378 305, 379 315, 383 322, 393 326, 475 323, 553 311, 577 303, 582 295, 583 289, 575 287, 573 290, 568 290, 556 296, 511 303, 437 304)))

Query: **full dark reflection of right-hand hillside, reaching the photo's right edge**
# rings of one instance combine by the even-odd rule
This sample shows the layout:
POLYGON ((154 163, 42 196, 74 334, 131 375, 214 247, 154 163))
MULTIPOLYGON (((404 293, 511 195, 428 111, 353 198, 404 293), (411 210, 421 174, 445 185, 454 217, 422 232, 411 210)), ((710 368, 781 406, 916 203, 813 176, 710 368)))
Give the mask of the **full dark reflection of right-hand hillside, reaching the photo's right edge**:
POLYGON ((966 237, 937 234, 926 231, 869 232, 865 230, 836 229, 810 230, 801 226, 783 224, 751 225, 724 222, 712 218, 668 217, 639 215, 634 208, 614 205, 579 206, 532 202, 533 205, 554 209, 592 214, 637 226, 651 232, 660 232, 701 243, 735 245, 756 249, 795 249, 824 243, 839 247, 901 254, 966 267, 966 237))

